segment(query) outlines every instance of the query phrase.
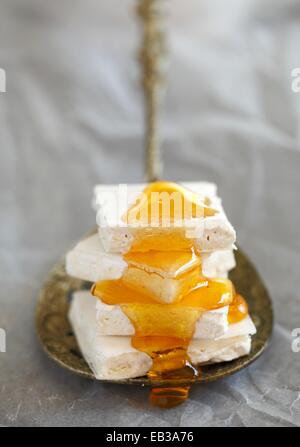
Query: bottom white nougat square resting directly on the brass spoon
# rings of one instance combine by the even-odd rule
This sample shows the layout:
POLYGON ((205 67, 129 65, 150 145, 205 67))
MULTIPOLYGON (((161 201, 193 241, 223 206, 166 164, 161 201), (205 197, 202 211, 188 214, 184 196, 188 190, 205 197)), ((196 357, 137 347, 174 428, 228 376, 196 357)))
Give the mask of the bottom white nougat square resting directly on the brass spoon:
MULTIPOLYGON (((97 379, 122 380, 147 374, 152 359, 131 346, 129 336, 103 336, 98 331, 95 299, 75 294, 69 319, 79 347, 97 379)), ((193 339, 188 355, 195 365, 230 361, 247 355, 256 331, 250 317, 230 325, 226 336, 215 340, 193 339)))

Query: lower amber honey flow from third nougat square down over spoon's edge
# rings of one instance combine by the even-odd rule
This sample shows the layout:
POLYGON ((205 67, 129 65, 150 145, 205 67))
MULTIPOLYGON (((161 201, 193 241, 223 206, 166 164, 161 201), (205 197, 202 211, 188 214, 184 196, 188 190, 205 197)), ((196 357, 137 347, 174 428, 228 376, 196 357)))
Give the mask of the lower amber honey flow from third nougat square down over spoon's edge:
POLYGON ((133 292, 122 280, 101 281, 94 285, 92 293, 106 304, 120 305, 130 319, 135 328, 132 346, 153 360, 148 372, 154 384, 150 402, 163 408, 183 403, 191 386, 184 383, 193 383, 201 373, 190 364, 187 353, 201 313, 229 305, 230 324, 241 321, 248 314, 244 298, 235 294, 231 281, 226 279, 202 279, 181 301, 173 304, 157 303, 147 295, 133 292), (169 386, 155 386, 163 381, 169 386), (172 381, 176 386, 172 386, 172 381), (183 385, 178 386, 181 381, 183 385))

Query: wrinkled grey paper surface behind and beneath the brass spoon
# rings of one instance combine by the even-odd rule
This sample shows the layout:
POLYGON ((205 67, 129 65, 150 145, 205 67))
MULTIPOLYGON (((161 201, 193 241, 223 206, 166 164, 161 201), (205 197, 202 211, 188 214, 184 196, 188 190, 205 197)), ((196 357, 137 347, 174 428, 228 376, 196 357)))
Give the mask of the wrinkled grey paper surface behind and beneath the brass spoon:
POLYGON ((2 0, 0 66, 0 424, 300 425, 300 66, 297 0, 172 0, 165 177, 219 186, 243 249, 274 300, 263 357, 195 386, 181 407, 148 390, 86 381, 42 353, 36 296, 94 225, 97 182, 143 179, 133 0, 2 0))

